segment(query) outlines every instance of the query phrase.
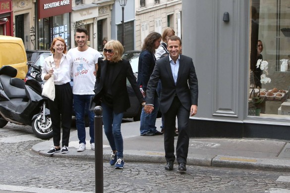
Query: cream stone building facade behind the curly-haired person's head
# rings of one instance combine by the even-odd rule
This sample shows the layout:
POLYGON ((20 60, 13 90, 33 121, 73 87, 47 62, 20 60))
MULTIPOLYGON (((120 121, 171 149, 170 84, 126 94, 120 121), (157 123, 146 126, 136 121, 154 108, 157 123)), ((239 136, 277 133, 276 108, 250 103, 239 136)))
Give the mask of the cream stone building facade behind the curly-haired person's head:
POLYGON ((141 49, 150 32, 162 34, 166 27, 181 38, 181 0, 135 0, 135 9, 135 49, 141 49))

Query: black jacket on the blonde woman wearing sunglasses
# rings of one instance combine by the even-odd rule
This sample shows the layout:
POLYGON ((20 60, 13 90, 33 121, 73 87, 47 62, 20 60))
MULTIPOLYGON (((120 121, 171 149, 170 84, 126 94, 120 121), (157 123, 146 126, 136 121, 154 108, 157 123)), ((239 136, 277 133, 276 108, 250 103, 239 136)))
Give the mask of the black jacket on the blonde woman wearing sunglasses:
MULTIPOLYGON (((108 76, 107 74, 107 66, 110 65, 108 60, 98 61, 98 72, 97 72, 97 81, 95 84, 95 97, 94 101, 96 103, 102 97, 102 90, 104 86, 105 77, 108 76)), ((144 100, 139 87, 136 82, 136 77, 133 74, 132 67, 128 60, 122 59, 116 64, 116 69, 113 75, 112 81, 112 96, 114 101, 114 110, 116 112, 124 112, 130 107, 130 100, 127 92, 127 82, 126 79, 128 78, 132 89, 134 90, 138 100, 142 103, 144 100)))

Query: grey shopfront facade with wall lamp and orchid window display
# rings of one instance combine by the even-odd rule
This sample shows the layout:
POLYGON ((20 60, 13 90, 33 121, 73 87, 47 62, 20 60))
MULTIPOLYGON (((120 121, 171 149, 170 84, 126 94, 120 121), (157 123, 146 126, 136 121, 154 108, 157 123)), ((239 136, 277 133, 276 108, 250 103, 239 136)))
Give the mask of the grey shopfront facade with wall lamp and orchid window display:
POLYGON ((199 81, 192 137, 290 139, 289 7, 289 0, 182 1, 182 53, 199 81))

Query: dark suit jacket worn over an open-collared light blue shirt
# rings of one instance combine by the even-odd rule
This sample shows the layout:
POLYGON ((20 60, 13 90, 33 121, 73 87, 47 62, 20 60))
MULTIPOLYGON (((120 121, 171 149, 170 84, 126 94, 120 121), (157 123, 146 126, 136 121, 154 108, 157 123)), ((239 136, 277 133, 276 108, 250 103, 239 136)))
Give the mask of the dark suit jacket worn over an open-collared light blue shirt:
POLYGON ((168 111, 175 95, 188 111, 190 111, 191 105, 197 105, 198 82, 192 58, 180 55, 176 85, 171 71, 169 56, 156 61, 153 74, 147 86, 147 104, 154 104, 154 93, 159 79, 162 82, 160 95, 160 109, 162 113, 168 111))

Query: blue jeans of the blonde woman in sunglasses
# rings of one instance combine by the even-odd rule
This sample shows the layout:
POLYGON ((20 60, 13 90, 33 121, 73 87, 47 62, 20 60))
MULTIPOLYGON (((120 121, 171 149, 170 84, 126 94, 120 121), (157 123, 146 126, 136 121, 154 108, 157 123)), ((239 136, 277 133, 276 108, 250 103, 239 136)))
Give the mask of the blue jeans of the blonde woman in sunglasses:
POLYGON ((104 131, 113 151, 117 150, 117 158, 123 158, 123 137, 121 123, 123 112, 116 113, 113 108, 102 102, 104 131))

